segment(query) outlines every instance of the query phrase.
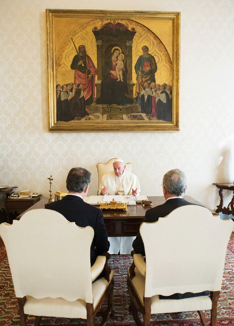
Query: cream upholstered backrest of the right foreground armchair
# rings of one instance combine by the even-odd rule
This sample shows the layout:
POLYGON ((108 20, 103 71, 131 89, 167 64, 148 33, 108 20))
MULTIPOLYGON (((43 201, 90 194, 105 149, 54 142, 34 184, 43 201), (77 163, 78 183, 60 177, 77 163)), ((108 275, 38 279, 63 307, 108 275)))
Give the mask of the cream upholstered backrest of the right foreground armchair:
POLYGON ((231 220, 196 205, 179 207, 158 222, 142 223, 144 296, 219 291, 232 229, 231 220))

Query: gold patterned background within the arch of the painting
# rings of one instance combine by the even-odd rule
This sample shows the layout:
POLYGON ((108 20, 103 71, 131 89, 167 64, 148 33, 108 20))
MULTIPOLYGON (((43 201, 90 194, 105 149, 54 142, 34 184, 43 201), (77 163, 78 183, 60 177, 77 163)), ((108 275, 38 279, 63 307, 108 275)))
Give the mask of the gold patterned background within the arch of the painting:
MULTIPOLYGON (((84 24, 71 35, 77 50, 80 44, 85 45, 86 52, 93 60, 95 67, 97 67, 97 47, 92 30, 95 26, 100 28, 101 24, 109 21, 110 19, 95 19, 84 24)), ((135 63, 142 54, 142 46, 147 45, 149 53, 154 56, 158 66, 158 70, 155 74, 156 83, 162 84, 165 82, 171 85, 172 62, 163 42, 146 26, 138 22, 121 19, 119 19, 118 22, 122 22, 125 25, 128 24, 130 30, 132 27, 136 30, 136 34, 133 38, 133 82, 136 82, 134 70, 135 63)), ((56 84, 62 85, 74 80, 74 71, 70 68, 70 65, 76 54, 74 45, 69 37, 61 47, 56 59, 56 84)), ((135 90, 133 90, 133 94, 134 91, 135 90)))

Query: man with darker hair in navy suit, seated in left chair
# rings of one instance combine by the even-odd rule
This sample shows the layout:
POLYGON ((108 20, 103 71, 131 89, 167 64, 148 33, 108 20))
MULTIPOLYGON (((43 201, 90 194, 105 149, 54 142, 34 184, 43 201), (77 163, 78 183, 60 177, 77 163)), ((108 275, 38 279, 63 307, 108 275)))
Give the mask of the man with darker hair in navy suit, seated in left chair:
MULTIPOLYGON (((94 238, 90 247, 92 266, 97 256, 108 251, 110 244, 101 210, 84 202, 91 183, 91 173, 84 168, 72 168, 68 173, 66 183, 69 194, 62 200, 46 205, 46 209, 57 211, 79 227, 89 225, 93 228, 94 238)), ((82 248, 73 249, 82 250, 82 248)), ((102 277, 102 273, 98 278, 100 277, 102 277)))

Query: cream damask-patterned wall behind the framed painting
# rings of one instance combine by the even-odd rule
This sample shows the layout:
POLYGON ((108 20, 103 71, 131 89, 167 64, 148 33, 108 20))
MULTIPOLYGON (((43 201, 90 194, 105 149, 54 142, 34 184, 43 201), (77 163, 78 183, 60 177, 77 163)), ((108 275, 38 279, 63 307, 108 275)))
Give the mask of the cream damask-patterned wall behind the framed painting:
POLYGON ((142 194, 161 195, 164 172, 179 168, 188 195, 219 203, 212 183, 234 180, 233 0, 11 0, 0 10, 0 184, 48 196, 50 174, 66 191, 70 168, 83 166, 95 194, 97 162, 117 156, 133 162, 142 194), (46 8, 180 11, 180 132, 49 133, 46 8))

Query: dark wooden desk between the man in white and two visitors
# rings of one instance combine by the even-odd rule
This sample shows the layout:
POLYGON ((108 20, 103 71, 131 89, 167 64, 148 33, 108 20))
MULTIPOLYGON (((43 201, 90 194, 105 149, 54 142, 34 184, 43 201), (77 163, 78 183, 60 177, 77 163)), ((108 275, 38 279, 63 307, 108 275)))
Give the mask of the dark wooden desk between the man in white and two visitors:
MULTIPOLYGON (((184 196, 184 199, 194 204, 201 204, 199 201, 195 200, 190 196, 184 196)), ((163 196, 148 197, 148 200, 152 201, 153 203, 152 207, 161 205, 165 202, 163 196)), ((43 198, 38 203, 30 207, 27 211, 35 208, 44 208, 46 201, 48 201, 48 199, 43 198)), ((116 211, 116 210, 102 211, 108 235, 114 237, 121 236, 121 235, 136 236, 136 233, 139 230, 142 220, 145 217, 146 211, 149 208, 151 207, 147 207, 147 206, 143 207, 141 204, 136 204, 136 206, 133 205, 128 206, 127 212, 116 211)), ((209 210, 213 215, 218 215, 211 209, 209 210)), ((18 216, 17 219, 20 219, 22 215, 18 216)))

